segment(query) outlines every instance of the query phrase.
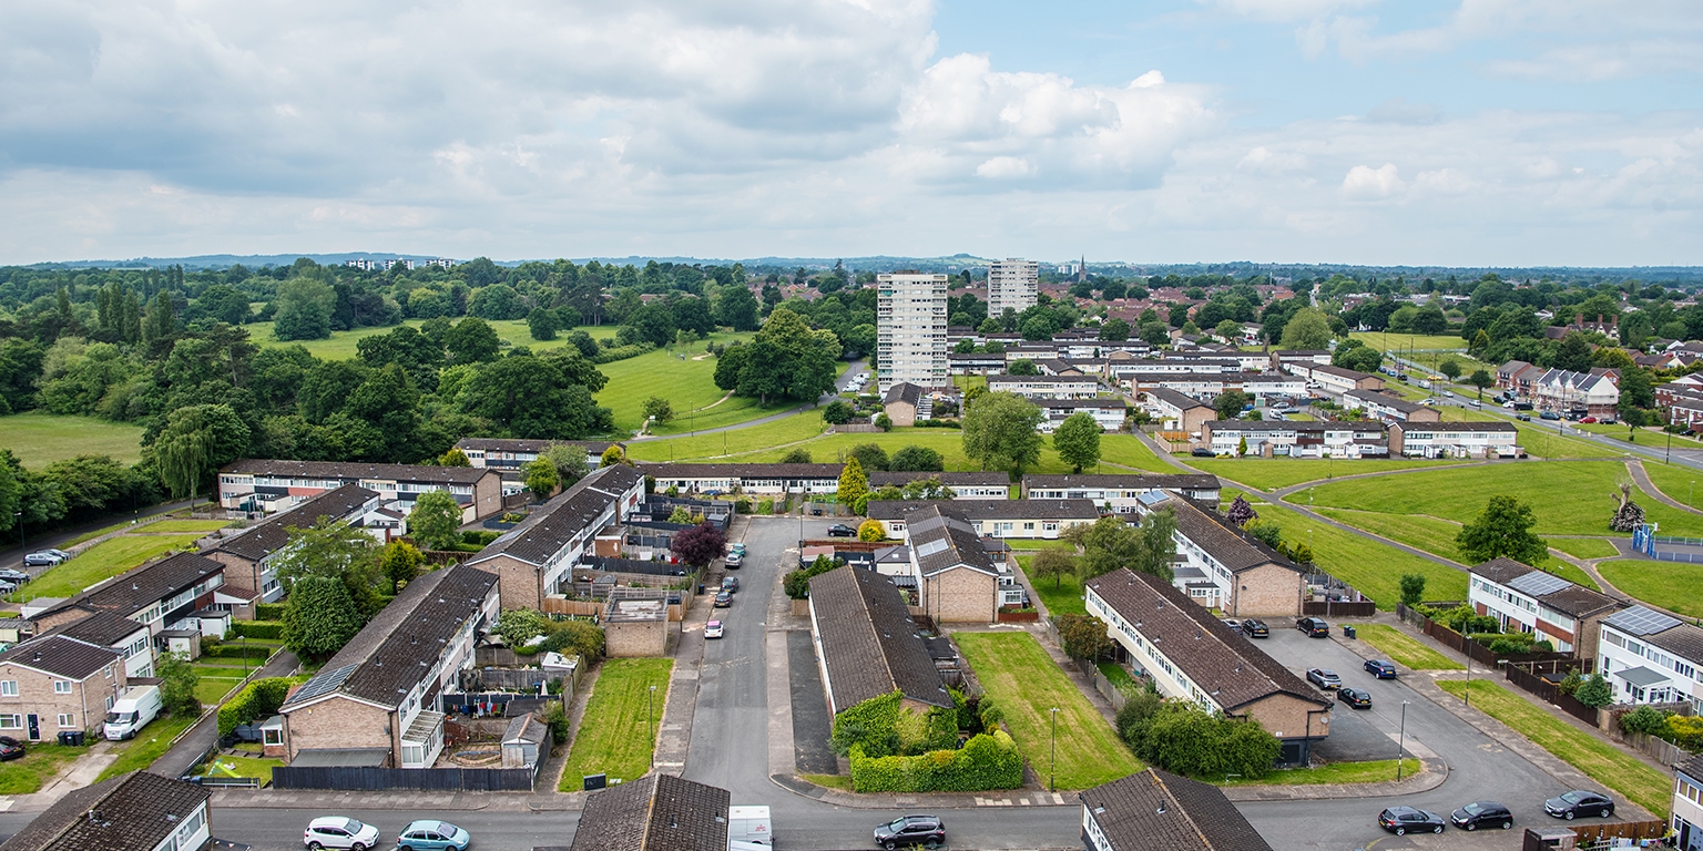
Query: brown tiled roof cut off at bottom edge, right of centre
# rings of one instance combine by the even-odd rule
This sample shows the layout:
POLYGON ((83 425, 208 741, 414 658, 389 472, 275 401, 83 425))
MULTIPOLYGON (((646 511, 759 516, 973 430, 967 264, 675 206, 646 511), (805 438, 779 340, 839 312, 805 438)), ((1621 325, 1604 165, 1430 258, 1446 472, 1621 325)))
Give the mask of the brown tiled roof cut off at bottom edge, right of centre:
POLYGON ((1156 768, 1080 798, 1112 851, 1270 851, 1221 790, 1156 768))

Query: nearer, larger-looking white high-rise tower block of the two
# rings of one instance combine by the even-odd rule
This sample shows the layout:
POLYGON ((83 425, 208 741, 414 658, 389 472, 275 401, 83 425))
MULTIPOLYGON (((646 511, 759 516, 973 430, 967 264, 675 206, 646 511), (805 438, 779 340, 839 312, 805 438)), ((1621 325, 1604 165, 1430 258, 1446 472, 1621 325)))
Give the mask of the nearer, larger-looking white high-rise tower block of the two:
POLYGON ((947 276, 894 272, 875 277, 875 349, 880 393, 901 381, 947 386, 947 276))

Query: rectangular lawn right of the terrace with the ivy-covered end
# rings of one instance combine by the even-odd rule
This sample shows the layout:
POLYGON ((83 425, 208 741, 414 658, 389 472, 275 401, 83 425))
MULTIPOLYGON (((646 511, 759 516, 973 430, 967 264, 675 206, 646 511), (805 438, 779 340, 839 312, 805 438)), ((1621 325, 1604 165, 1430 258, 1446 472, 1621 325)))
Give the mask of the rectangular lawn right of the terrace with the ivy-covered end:
POLYGON ((1029 768, 1049 773, 1052 715, 1058 708, 1056 781, 1061 790, 1098 786, 1141 769, 1141 762, 1029 633, 952 637, 1001 711, 1029 768))

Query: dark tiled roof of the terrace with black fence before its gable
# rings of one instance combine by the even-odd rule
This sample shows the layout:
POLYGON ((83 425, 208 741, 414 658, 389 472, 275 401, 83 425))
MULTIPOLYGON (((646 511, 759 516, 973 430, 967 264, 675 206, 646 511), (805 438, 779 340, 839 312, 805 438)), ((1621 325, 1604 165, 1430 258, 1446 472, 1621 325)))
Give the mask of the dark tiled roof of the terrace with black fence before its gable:
POLYGON ((444 642, 475 616, 496 584, 496 574, 472 565, 422 574, 330 657, 313 679, 296 689, 284 706, 334 691, 395 706, 407 689, 426 677, 444 642))

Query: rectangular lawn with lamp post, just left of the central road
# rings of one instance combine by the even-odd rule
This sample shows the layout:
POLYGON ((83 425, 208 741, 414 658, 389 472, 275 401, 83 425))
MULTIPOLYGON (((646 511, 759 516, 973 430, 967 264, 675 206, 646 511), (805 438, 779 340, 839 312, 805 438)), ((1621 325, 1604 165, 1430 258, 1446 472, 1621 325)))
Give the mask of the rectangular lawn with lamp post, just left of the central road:
POLYGON ((651 717, 662 723, 662 705, 668 701, 668 677, 673 659, 610 659, 586 701, 586 715, 579 734, 569 745, 567 766, 562 769, 562 791, 581 786, 584 774, 608 774, 610 780, 635 780, 651 771, 652 739, 651 717), (649 688, 656 686, 656 701, 649 703, 649 688))

